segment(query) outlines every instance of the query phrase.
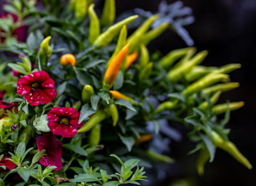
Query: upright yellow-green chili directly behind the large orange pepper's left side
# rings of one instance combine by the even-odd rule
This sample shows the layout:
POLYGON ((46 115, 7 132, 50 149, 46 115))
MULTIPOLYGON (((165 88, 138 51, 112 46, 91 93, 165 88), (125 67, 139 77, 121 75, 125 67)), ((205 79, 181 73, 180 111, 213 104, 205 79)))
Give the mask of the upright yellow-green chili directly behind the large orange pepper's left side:
MULTIPOLYGON (((120 31, 116 49, 115 49, 114 53, 111 55, 111 57, 109 58, 107 66, 110 64, 110 62, 113 60, 113 58, 118 54, 118 52, 120 52, 120 50, 127 44, 126 38, 127 38, 127 29, 126 29, 126 26, 124 25, 122 30, 120 31)), ((123 61, 123 63, 124 63, 124 61, 123 61)), ((121 67, 122 67, 122 65, 121 65, 121 67)))

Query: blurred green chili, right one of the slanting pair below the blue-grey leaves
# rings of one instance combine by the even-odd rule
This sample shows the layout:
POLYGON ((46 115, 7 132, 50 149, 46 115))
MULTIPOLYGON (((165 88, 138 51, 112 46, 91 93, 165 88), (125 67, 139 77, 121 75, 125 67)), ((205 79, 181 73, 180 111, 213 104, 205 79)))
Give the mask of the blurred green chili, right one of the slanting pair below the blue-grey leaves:
POLYGON ((151 40, 160 36, 161 33, 163 33, 168 27, 169 27, 169 23, 162 23, 159 27, 149 30, 141 38, 142 43, 147 46, 151 40))

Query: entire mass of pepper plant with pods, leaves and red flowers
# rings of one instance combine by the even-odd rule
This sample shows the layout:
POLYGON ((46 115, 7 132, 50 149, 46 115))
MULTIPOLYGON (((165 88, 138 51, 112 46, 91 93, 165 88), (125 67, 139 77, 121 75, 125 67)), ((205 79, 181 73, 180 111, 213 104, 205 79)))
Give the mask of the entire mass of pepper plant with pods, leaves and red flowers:
POLYGON ((218 148, 252 168, 225 128, 244 103, 217 104, 239 86, 228 73, 241 65, 202 66, 208 53, 195 47, 165 56, 147 48, 167 28, 193 45, 182 27, 193 22, 191 9, 163 2, 157 14, 137 9, 115 21, 114 0, 105 1, 101 18, 93 0, 42 5, 10 1, 0 20, 1 185, 140 184, 144 167, 150 173, 174 163, 165 155, 170 138, 180 139, 173 124, 190 130, 200 175, 218 148), (22 43, 13 33, 27 24, 22 43))

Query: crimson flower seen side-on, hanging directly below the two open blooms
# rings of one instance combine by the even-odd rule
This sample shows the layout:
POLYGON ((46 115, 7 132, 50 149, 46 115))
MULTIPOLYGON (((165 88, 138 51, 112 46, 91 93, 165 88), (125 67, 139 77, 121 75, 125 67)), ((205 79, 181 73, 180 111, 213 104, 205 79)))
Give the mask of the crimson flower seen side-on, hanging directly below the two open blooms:
POLYGON ((38 136, 36 145, 39 151, 45 149, 45 156, 39 159, 39 162, 44 166, 57 166, 54 171, 59 171, 62 168, 62 141, 56 141, 54 134, 47 132, 44 136, 38 136))

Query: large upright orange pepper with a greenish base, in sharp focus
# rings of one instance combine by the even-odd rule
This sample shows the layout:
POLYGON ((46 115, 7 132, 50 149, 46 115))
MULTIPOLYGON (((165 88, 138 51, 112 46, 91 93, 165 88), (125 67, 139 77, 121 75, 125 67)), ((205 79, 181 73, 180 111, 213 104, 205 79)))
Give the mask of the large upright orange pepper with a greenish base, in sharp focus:
POLYGON ((124 60, 125 55, 128 52, 129 46, 130 46, 130 43, 125 45, 109 64, 108 69, 103 78, 103 84, 102 84, 103 88, 110 89, 113 86, 113 83, 117 77, 119 68, 124 60))

